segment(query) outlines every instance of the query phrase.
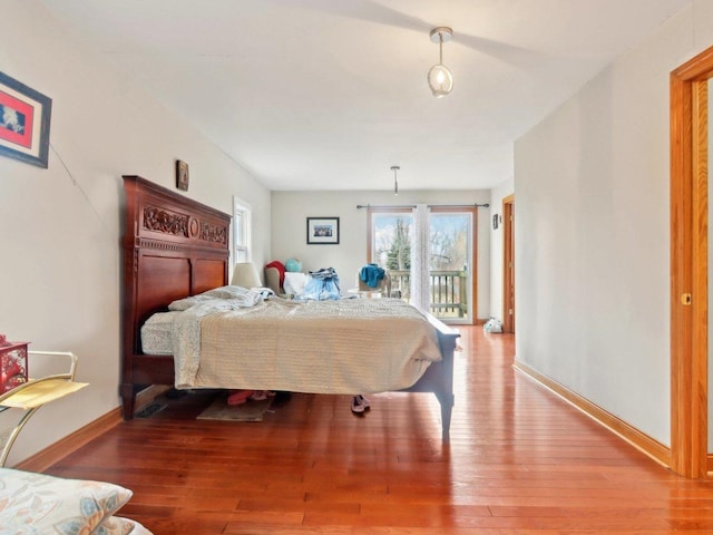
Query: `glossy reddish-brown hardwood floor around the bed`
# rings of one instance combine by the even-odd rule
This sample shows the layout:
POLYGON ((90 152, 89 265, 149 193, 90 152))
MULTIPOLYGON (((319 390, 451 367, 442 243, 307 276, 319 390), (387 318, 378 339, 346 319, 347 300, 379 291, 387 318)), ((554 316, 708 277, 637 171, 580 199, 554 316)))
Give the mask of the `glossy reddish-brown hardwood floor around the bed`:
POLYGON ((713 486, 661 467, 511 368, 514 340, 461 328, 451 441, 432 395, 292 395, 262 422, 195 420, 188 395, 47 470, 134 490, 164 534, 713 533, 713 486))

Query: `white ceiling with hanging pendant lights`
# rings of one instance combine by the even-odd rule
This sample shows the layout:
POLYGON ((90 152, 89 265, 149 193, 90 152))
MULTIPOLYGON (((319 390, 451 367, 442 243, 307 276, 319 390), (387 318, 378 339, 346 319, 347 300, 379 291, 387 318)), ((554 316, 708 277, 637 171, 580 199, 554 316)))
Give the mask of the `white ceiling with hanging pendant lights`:
POLYGON ((489 188, 691 0, 40 0, 272 189, 489 188), (436 26, 451 95, 431 96, 436 26))

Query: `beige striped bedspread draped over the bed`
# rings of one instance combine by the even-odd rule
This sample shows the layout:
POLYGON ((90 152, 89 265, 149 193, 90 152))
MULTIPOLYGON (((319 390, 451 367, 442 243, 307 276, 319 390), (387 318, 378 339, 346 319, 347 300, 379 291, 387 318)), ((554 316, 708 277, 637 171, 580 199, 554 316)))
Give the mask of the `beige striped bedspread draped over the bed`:
POLYGON ((177 388, 380 392, 441 358, 436 329, 395 299, 205 301, 178 315, 173 343, 177 388))

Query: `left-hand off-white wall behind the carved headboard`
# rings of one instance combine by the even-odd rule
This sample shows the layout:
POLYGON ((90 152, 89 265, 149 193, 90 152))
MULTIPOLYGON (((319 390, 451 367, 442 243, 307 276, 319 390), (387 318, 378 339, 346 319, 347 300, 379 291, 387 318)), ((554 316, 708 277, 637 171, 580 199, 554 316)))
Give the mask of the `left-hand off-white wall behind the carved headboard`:
POLYGON ((37 1, 2 8, 1 69, 52 98, 52 117, 48 169, 0 157, 0 332, 74 351, 78 380, 90 383, 30 420, 13 465, 119 405, 123 174, 174 188, 178 158, 191 166, 191 197, 231 213, 240 195, 256 214, 256 262, 268 255, 271 222, 266 188, 37 1))

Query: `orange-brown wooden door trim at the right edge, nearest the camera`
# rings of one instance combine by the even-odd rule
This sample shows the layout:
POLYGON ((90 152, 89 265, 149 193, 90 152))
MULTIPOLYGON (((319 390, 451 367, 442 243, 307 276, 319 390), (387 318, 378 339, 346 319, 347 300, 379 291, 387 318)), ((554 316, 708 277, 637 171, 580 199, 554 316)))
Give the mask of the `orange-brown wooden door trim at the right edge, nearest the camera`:
POLYGON ((713 47, 671 74, 671 468, 707 470, 707 79, 713 47), (690 304, 685 296, 691 295, 690 304))

